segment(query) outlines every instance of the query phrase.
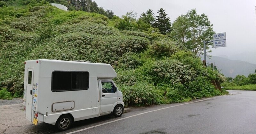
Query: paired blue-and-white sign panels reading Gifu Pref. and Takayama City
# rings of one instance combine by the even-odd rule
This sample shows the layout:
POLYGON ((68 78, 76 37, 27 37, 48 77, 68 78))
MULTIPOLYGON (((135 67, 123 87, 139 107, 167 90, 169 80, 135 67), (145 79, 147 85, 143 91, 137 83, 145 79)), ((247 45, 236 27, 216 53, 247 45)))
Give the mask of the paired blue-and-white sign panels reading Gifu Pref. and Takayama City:
POLYGON ((226 47, 226 33, 213 34, 213 47, 226 47))

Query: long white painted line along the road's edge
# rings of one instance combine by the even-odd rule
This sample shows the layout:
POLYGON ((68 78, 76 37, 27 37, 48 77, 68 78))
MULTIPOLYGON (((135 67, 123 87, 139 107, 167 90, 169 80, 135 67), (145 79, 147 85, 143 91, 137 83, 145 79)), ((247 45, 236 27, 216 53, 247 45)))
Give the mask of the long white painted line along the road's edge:
MULTIPOLYGON (((217 96, 217 97, 212 97, 212 98, 218 98, 218 97, 222 97, 222 96, 217 96)), ((179 104, 179 105, 175 105, 175 106, 187 105, 187 104, 191 104, 191 103, 205 101, 205 100, 212 99, 212 98, 202 99, 202 100, 198 100, 198 101, 194 101, 194 102, 183 103, 183 104, 179 104)), ((140 113, 140 114, 131 115, 131 116, 128 116, 128 117, 124 117, 124 118, 117 119, 117 120, 110 121, 110 122, 105 122, 105 123, 102 123, 102 124, 99 124, 99 125, 91 126, 91 127, 80 129, 80 130, 76 130, 76 131, 69 132, 69 133, 66 133, 66 134, 73 134, 73 133, 81 132, 81 131, 84 131, 84 130, 88 130, 88 129, 92 129, 92 128, 99 127, 99 126, 102 126, 102 125, 106 125, 106 124, 109 124, 109 123, 112 123, 112 122, 121 121, 121 120, 124 120, 124 119, 127 119, 127 118, 131 118, 131 117, 134 117, 134 116, 141 115, 141 114, 147 114, 147 113, 150 113, 150 112, 155 112, 155 111, 159 111, 159 110, 163 110, 163 109, 167 109, 167 108, 171 108, 171 107, 175 107, 175 106, 164 107, 164 108, 160 108, 160 109, 156 109, 156 110, 152 110, 152 111, 148 111, 148 112, 144 112, 144 113, 140 113)))

